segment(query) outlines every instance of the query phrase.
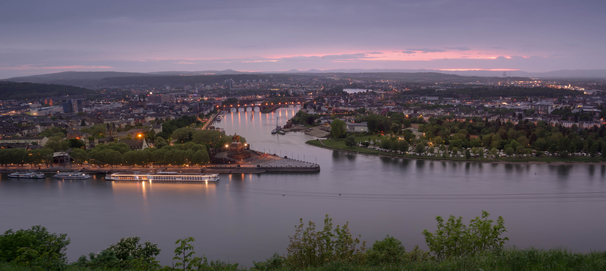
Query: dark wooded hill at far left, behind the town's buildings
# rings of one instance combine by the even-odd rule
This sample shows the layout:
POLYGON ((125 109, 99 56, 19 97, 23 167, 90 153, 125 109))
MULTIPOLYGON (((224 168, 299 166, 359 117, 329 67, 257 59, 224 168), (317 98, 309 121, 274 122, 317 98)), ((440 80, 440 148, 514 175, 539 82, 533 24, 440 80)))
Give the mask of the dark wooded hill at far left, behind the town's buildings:
POLYGON ((79 95, 94 90, 70 85, 29 82, 0 82, 0 100, 42 99, 51 96, 79 95))

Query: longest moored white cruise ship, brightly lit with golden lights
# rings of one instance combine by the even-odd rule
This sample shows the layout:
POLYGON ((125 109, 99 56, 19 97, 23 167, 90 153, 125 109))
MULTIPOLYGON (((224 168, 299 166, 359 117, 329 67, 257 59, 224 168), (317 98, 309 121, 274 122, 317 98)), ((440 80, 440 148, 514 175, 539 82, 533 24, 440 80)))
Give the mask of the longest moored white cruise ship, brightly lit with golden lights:
POLYGON ((218 181, 219 174, 179 173, 161 171, 151 172, 118 172, 105 175, 105 180, 131 181, 218 181))

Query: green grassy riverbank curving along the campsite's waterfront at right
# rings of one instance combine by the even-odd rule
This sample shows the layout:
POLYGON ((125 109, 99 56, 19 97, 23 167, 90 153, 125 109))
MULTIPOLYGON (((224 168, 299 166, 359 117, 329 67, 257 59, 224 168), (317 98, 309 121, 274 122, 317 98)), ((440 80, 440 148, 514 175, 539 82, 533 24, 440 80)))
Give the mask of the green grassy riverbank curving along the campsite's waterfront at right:
POLYGON ((390 157, 390 158, 408 158, 416 160, 433 160, 433 161, 450 161, 450 162, 481 162, 481 163, 530 163, 530 164, 549 164, 549 165, 567 165, 567 164, 581 164, 581 165, 606 165, 606 159, 604 158, 591 158, 591 157, 497 157, 497 158, 464 158, 464 157, 439 157, 439 156, 425 156, 425 155, 406 155, 397 154, 396 152, 385 152, 377 151, 375 149, 362 148, 360 146, 345 146, 344 143, 339 145, 326 145, 324 140, 308 140, 305 144, 310 146, 316 146, 319 148, 333 149, 335 151, 350 152, 353 154, 364 154, 378 157, 390 157))

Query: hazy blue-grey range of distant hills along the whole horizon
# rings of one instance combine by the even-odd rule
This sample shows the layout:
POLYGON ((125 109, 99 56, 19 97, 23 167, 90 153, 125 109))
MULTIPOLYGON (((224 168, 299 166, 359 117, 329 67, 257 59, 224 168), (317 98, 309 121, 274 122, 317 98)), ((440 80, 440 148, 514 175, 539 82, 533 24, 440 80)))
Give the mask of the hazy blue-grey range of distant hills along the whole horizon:
MULTIPOLYGON (((122 73, 118 71, 64 71, 62 73, 40 74, 33 76, 12 77, 2 79, 12 82, 33 82, 33 83, 55 83, 62 85, 75 85, 78 87, 96 87, 99 85, 149 85, 150 87, 161 87, 161 85, 190 85, 193 83, 205 83, 205 79, 214 79, 212 76, 228 76, 227 79, 234 79, 243 75, 252 74, 291 74, 291 75, 312 75, 323 76, 324 74, 351 74, 357 77, 362 73, 368 76, 380 76, 384 80, 465 80, 462 77, 503 77, 503 71, 471 70, 471 71, 442 71, 442 70, 410 70, 410 69, 336 69, 336 70, 288 70, 288 71, 235 71, 235 70, 206 70, 206 71, 155 71, 152 73, 122 73), (168 78, 168 76, 188 76, 190 78, 168 78), (192 77, 193 76, 193 77, 192 77), (208 76, 208 77, 197 77, 208 76), (454 77, 461 76, 461 77, 454 77), (129 79, 125 79, 128 77, 129 79), (141 78, 135 78, 141 77, 141 78), (148 77, 164 77, 150 79, 148 77), (108 79, 114 78, 114 79, 108 79), (122 78, 122 79, 118 79, 122 78), (145 79, 147 78, 147 79, 145 79), (132 83, 129 83, 130 82, 132 83)), ((506 71, 507 77, 524 77, 539 79, 583 79, 583 78, 606 78, 606 70, 559 70, 547 71, 545 73, 528 73, 526 71, 506 71)), ((258 78, 256 78, 258 79, 258 78)), ((0 81, 2 81, 0 80, 0 81)), ((242 79, 238 79, 242 80, 242 79)), ((487 78, 478 79, 487 80, 487 78)), ((210 83, 218 83, 213 81, 210 83)))

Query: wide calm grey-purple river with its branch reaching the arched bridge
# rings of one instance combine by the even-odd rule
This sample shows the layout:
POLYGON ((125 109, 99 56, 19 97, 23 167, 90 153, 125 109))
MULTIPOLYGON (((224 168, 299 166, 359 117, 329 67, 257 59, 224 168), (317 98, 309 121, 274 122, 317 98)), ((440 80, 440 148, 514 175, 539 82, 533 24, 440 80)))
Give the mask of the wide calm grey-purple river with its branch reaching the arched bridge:
POLYGON ((428 162, 330 151, 305 145, 303 132, 270 134, 296 108, 228 113, 216 126, 253 149, 316 162, 312 173, 222 174, 216 183, 88 180, 0 181, 0 230, 42 225, 72 239, 68 256, 98 253, 121 237, 158 243, 171 264, 175 241, 195 237, 196 255, 250 266, 285 253, 299 218, 336 224, 373 243, 393 235, 406 249, 425 246, 435 217, 464 221, 501 215, 508 246, 606 250, 606 168, 428 162), (339 195, 341 194, 341 195, 339 195))

